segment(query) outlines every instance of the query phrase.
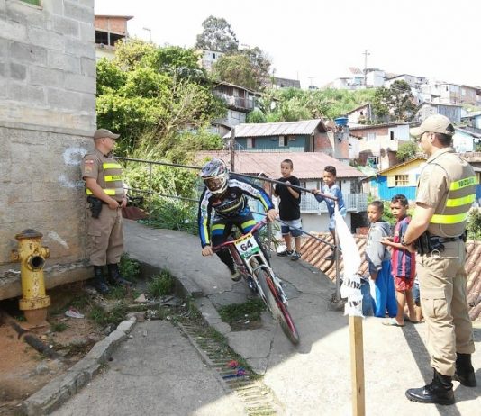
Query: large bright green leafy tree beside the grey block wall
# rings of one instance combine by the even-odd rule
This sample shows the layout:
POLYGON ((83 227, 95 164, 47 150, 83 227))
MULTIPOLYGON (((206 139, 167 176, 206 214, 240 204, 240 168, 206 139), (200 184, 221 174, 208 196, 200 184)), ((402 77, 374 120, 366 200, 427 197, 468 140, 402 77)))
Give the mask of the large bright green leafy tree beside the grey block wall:
POLYGON ((204 72, 193 50, 129 41, 116 54, 97 64, 97 122, 121 133, 120 153, 131 153, 147 135, 164 156, 186 126, 195 129, 225 113, 208 79, 196 77, 196 70, 204 72))

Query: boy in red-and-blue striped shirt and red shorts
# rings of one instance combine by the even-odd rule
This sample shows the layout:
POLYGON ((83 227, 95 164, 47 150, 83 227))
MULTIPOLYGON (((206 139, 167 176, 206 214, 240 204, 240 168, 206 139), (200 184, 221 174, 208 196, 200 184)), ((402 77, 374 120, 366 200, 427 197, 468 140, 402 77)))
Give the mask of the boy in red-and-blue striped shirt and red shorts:
POLYGON ((411 219, 407 216, 409 203, 404 195, 398 194, 391 200, 391 213, 396 219, 395 235, 386 237, 381 242, 392 248, 391 267, 395 278, 395 297, 397 299, 397 314, 395 319, 383 322, 385 325, 404 326, 404 306, 407 303, 408 321, 417 323, 414 312, 413 285, 416 274, 416 255, 401 244, 404 232, 411 219))

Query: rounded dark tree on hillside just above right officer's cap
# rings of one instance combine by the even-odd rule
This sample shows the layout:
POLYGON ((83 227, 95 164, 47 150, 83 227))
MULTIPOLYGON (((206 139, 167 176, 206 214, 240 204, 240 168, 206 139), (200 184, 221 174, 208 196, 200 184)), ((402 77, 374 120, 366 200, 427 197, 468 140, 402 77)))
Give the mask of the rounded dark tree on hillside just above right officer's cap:
POLYGON ((392 86, 378 88, 373 101, 373 112, 377 118, 388 117, 389 121, 406 122, 413 118, 416 110, 411 86, 405 81, 395 81, 392 86))

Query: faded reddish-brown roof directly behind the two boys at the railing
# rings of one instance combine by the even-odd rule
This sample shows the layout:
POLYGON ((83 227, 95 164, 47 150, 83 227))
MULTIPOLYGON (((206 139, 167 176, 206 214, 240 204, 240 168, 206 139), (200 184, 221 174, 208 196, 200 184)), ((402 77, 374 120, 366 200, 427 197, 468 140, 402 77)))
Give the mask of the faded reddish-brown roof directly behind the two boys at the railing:
MULTIPOLYGON (((222 158, 230 165, 231 154, 226 151, 206 151, 197 155, 198 160, 206 157, 222 158)), ((238 151, 235 153, 235 172, 248 175, 264 175, 271 179, 280 177, 280 164, 289 158, 293 161, 294 176, 299 179, 320 179, 325 166, 336 167, 339 178, 364 177, 364 174, 355 167, 340 162, 336 158, 321 152, 256 152, 238 151)))

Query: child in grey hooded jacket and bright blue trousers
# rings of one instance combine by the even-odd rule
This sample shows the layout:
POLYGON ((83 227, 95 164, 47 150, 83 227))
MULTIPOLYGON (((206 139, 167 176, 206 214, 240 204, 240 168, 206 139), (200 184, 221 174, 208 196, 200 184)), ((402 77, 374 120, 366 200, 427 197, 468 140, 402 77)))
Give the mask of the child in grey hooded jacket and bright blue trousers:
MULTIPOLYGON (((389 250, 381 243, 383 237, 390 234, 389 222, 382 221, 384 205, 380 201, 368 204, 368 219, 371 226, 366 241, 366 259, 368 260, 369 274, 376 286, 376 299, 374 299, 374 316, 384 318, 386 309, 389 317, 397 314, 395 301, 395 284, 391 276, 391 257, 389 250)), ((401 325, 399 325, 401 326, 401 325)))

